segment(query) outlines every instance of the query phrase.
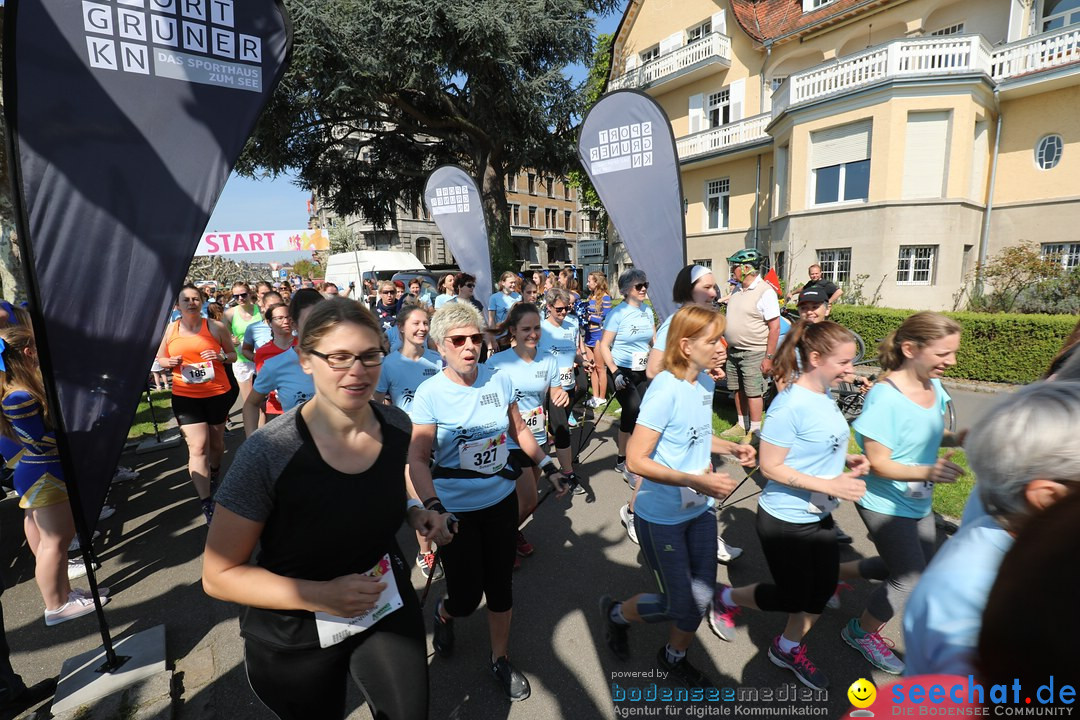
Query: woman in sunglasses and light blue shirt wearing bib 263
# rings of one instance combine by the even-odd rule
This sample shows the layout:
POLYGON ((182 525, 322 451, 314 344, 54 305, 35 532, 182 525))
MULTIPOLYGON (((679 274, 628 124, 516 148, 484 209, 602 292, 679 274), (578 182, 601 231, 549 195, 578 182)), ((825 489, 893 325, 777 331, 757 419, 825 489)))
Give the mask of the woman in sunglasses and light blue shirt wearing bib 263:
MULTIPOLYGON (((567 317, 572 305, 570 294, 556 287, 545 294, 548 300, 548 317, 540 323, 540 342, 537 345, 540 354, 555 359, 558 368, 558 385, 569 396, 565 405, 548 403, 549 422, 555 436, 555 456, 558 463, 572 471, 573 457, 570 452, 570 422, 573 405, 578 397, 585 393, 585 375, 576 368, 586 366, 583 358, 585 345, 581 341, 581 328, 577 322, 567 317)), ((583 494, 576 476, 570 475, 573 491, 583 494)))

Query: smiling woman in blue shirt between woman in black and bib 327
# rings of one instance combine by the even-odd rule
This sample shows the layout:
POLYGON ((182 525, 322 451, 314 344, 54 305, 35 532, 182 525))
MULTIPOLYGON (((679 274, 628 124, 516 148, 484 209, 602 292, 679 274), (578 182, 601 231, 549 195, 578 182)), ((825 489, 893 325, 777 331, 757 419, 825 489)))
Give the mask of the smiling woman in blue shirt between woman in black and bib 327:
MULTIPOLYGON (((404 340, 399 352, 391 352, 382 363, 379 384, 375 389, 376 403, 389 402, 408 413, 416 389, 443 369, 443 358, 434 350, 428 350, 430 323, 428 311, 420 305, 407 304, 397 313, 397 324, 393 329, 402 331, 404 340)), ((408 481, 408 468, 405 477, 408 481)), ((420 546, 416 556, 420 572, 424 578, 434 572, 434 579, 441 579, 443 569, 435 565, 435 552, 431 542, 419 532, 416 539, 420 546)))

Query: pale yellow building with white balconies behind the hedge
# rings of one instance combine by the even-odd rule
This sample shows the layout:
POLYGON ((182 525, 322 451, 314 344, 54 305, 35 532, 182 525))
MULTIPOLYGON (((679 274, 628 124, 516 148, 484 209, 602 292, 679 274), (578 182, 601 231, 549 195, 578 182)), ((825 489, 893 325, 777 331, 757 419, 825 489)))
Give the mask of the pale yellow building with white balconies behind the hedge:
POLYGON ((1080 0, 630 0, 630 87, 671 119, 687 257, 718 273, 756 246, 948 310, 1008 245, 1080 267, 1080 0))

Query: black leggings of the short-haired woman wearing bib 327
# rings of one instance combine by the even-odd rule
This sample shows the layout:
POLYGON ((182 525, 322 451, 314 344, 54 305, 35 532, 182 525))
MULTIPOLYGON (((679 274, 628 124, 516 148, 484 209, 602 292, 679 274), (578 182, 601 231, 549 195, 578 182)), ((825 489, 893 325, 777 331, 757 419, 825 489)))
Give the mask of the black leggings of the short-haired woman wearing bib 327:
MULTIPOLYGON (((492 483, 508 483, 492 478, 492 483)), ((507 612, 514 607, 514 538, 517 535, 517 495, 511 492, 490 507, 455 513, 458 534, 440 547, 446 571, 443 609, 464 617, 487 597, 487 609, 507 612)))

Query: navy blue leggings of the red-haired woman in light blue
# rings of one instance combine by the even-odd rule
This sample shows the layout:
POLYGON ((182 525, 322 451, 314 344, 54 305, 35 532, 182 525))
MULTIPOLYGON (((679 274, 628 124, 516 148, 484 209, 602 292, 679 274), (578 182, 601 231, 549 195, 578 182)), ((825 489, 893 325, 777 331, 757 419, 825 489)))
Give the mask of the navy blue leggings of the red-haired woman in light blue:
POLYGON ((716 514, 708 510, 678 525, 649 522, 634 516, 642 553, 660 586, 659 595, 643 595, 637 611, 647 623, 675 621, 693 633, 705 616, 716 589, 716 514))

